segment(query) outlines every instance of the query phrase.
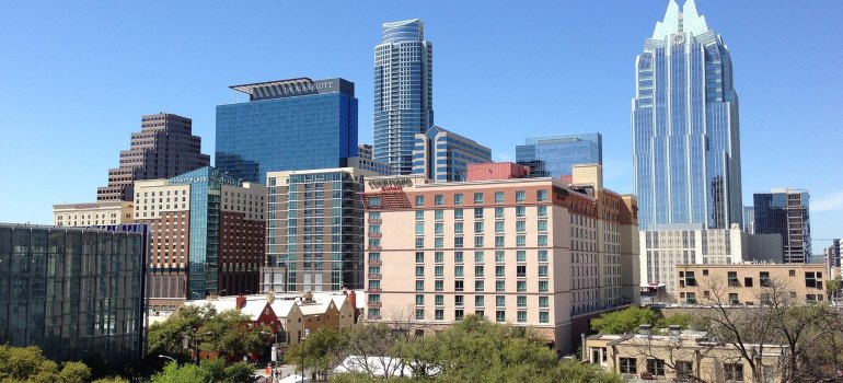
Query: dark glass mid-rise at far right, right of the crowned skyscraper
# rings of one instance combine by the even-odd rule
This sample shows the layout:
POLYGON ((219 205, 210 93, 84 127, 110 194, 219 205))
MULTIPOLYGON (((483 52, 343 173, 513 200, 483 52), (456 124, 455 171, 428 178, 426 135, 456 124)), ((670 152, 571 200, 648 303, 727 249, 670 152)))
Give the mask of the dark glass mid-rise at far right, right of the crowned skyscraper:
POLYGON ((773 189, 755 193, 755 233, 782 234, 785 264, 811 258, 811 223, 807 190, 773 189))

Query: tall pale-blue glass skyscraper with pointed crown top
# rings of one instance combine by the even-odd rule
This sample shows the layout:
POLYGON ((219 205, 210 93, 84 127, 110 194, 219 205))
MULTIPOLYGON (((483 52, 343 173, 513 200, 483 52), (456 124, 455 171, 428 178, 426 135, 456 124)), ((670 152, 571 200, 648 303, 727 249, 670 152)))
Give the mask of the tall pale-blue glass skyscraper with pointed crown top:
POLYGON ((633 183, 642 230, 741 224, 738 95, 729 50, 671 0, 635 60, 633 183))

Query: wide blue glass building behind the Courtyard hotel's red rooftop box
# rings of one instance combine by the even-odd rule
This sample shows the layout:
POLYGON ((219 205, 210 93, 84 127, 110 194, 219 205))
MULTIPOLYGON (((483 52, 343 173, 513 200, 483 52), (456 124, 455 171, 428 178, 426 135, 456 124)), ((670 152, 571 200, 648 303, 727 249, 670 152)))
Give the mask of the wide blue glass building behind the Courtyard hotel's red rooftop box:
POLYGON ((603 136, 531 137, 516 146, 516 162, 530 166, 531 177, 569 176, 574 165, 603 164, 603 136))

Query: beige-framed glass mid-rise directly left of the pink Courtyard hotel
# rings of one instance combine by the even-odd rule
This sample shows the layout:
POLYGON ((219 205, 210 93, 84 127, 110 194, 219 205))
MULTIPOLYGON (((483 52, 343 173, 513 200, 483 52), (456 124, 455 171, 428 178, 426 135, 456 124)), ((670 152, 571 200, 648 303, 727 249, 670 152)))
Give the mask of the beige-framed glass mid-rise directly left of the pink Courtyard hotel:
POLYGON ((262 292, 363 286, 363 178, 354 167, 267 173, 262 292))

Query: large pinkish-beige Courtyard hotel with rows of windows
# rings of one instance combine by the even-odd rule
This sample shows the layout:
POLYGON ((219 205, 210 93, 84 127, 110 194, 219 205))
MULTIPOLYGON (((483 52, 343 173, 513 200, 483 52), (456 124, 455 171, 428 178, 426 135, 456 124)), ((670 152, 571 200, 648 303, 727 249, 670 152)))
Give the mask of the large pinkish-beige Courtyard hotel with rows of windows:
POLYGON ((574 181, 368 178, 367 320, 408 315, 424 330, 473 313, 568 352, 639 289, 635 198, 603 188, 598 165, 574 181))

